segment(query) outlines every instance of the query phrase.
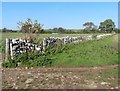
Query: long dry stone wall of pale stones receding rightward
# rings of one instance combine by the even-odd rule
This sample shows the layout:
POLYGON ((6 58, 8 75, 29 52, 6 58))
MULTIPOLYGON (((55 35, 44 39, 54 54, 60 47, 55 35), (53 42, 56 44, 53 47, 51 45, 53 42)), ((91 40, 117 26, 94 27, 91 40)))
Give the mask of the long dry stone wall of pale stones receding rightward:
MULTIPOLYGON (((77 43, 83 40, 100 40, 106 36, 111 36, 112 34, 102 34, 97 36, 78 36, 78 37, 48 37, 44 38, 44 40, 38 44, 32 44, 27 40, 22 40, 21 38, 16 39, 6 39, 6 50, 10 50, 11 59, 15 56, 30 52, 33 50, 39 51, 41 54, 44 54, 46 48, 51 45, 56 45, 58 42, 61 45, 68 44, 68 43, 77 43)), ((6 54, 8 53, 6 51, 6 54)))

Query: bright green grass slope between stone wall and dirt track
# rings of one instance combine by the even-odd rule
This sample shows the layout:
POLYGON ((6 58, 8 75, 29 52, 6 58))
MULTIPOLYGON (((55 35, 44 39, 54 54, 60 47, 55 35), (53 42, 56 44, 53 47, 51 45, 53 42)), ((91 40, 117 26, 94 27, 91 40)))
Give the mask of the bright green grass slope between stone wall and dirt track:
POLYGON ((101 66, 118 64, 118 46, 113 37, 104 40, 69 44, 61 52, 51 56, 52 66, 101 66), (114 42, 114 44, 113 44, 114 42))

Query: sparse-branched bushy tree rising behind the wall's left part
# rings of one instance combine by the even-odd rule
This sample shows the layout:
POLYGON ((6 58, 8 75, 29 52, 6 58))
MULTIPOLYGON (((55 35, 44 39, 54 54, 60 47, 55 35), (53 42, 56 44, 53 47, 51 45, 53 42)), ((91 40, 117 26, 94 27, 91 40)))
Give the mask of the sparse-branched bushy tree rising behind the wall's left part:
POLYGON ((32 22, 32 20, 30 18, 28 18, 26 22, 18 22, 17 24, 19 25, 18 28, 20 28, 20 30, 23 33, 37 33, 37 32, 41 32, 42 27, 43 27, 43 25, 38 23, 37 20, 32 22))

